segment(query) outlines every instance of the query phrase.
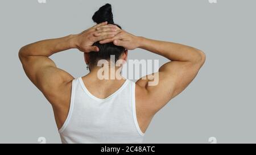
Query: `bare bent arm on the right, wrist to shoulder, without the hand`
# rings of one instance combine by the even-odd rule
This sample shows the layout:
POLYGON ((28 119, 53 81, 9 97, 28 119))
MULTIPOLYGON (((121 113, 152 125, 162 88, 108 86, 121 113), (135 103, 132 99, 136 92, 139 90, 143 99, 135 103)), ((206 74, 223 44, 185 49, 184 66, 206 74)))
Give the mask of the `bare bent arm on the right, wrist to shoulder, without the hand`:
MULTIPOLYGON (((205 54, 199 49, 187 45, 158 41, 138 37, 139 48, 164 56, 170 60, 159 68, 154 78, 158 84, 148 85, 155 79, 139 79, 136 84, 137 100, 142 100, 141 107, 154 115, 172 98, 180 94, 196 77, 199 69, 205 62, 205 54)), ((148 113, 147 112, 147 113, 148 113)))

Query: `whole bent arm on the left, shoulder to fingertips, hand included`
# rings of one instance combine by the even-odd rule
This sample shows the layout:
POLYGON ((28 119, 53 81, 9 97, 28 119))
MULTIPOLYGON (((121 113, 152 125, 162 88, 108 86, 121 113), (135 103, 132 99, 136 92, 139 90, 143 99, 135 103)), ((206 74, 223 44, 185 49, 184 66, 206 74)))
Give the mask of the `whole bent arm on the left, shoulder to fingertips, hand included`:
POLYGON ((113 26, 107 22, 100 23, 77 35, 28 44, 20 49, 19 58, 27 77, 50 101, 55 99, 56 95, 65 94, 63 91, 71 91, 71 88, 64 88, 70 84, 73 77, 57 68, 49 56, 71 48, 77 48, 81 52, 97 52, 99 49, 93 46, 93 43, 113 37, 115 33, 117 32, 113 26))

